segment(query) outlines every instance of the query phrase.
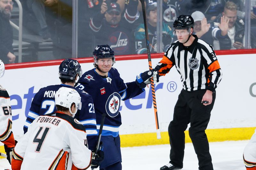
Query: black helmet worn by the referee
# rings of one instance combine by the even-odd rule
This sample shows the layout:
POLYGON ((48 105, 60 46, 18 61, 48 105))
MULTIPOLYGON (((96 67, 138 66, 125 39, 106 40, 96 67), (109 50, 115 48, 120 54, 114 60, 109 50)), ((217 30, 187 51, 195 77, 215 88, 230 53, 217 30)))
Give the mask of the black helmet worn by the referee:
POLYGON ((194 19, 190 15, 180 15, 173 23, 173 29, 194 28, 194 19))

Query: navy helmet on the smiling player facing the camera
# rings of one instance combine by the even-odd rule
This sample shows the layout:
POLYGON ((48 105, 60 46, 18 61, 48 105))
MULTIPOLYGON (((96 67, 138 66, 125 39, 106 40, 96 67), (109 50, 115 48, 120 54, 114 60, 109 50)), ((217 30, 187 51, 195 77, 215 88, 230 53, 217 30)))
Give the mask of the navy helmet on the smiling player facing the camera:
POLYGON ((115 53, 109 45, 97 45, 92 55, 95 64, 97 64, 99 58, 112 58, 112 65, 116 63, 115 53))

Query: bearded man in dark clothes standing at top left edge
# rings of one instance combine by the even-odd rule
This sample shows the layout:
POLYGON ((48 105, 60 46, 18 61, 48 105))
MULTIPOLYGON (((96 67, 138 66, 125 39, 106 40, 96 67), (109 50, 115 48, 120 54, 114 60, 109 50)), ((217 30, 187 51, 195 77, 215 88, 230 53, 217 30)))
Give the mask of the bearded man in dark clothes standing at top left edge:
POLYGON ((12 5, 12 0, 0 1, 0 59, 4 63, 14 63, 16 59, 12 47, 13 31, 10 24, 12 5))

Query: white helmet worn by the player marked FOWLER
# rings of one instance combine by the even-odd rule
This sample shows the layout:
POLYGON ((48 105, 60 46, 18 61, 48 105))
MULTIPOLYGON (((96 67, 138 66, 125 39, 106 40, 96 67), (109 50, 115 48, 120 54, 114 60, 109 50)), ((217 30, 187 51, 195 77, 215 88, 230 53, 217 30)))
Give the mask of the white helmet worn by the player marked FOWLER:
POLYGON ((77 109, 81 110, 82 103, 79 93, 72 88, 60 87, 60 89, 55 94, 55 105, 68 108, 69 112, 73 115, 72 117, 74 117, 76 112, 71 112, 72 103, 75 103, 76 105, 76 112, 77 109))

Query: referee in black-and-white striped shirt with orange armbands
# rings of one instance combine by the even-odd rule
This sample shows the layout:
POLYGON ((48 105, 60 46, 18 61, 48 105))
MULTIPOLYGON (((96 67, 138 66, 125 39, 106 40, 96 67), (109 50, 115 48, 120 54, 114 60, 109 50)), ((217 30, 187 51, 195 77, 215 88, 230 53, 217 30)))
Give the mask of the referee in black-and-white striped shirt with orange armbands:
POLYGON ((175 65, 183 84, 174 107, 173 120, 168 127, 171 144, 170 162, 160 170, 183 167, 184 131, 188 123, 199 170, 213 170, 205 129, 210 120, 216 96, 215 89, 220 83, 222 72, 212 46, 192 35, 193 26, 194 20, 190 15, 180 15, 174 21, 174 35, 178 41, 171 44, 155 67, 159 71, 159 76, 164 76, 175 65))

